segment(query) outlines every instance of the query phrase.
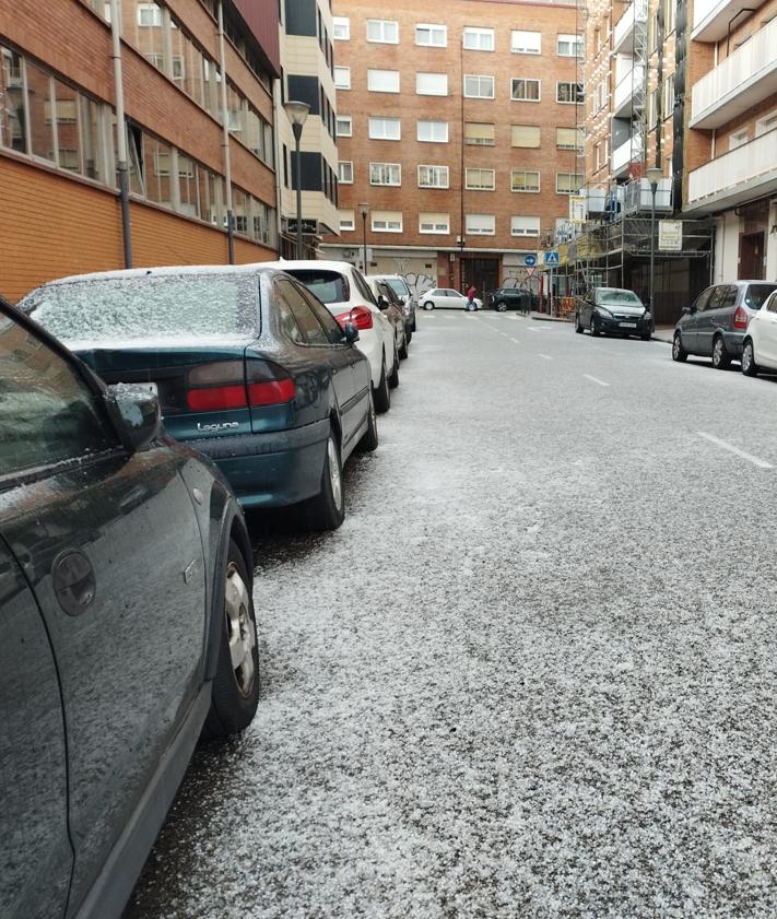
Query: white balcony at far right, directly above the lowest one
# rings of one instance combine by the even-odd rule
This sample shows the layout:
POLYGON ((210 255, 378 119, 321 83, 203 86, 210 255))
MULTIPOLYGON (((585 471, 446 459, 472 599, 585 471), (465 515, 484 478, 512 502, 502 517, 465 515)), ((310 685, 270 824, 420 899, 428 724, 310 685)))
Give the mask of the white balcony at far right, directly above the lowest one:
POLYGON ((777 93, 777 19, 693 87, 692 128, 720 128, 777 93))

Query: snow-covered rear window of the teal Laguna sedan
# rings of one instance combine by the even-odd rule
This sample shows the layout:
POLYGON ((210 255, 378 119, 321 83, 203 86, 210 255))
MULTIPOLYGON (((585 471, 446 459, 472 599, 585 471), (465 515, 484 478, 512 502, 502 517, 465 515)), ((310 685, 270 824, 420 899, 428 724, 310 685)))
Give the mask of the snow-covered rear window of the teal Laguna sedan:
POLYGON ((257 290, 251 274, 95 278, 40 287, 20 306, 66 341, 255 334, 257 290))

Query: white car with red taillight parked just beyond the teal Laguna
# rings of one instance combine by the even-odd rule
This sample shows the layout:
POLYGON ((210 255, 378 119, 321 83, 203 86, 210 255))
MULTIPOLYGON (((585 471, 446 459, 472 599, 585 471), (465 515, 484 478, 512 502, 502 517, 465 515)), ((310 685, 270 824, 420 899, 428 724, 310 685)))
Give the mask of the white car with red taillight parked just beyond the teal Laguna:
POLYGON ((367 356, 377 412, 388 412, 391 389, 399 386, 399 356, 393 326, 378 304, 362 272, 346 261, 261 262, 302 281, 321 301, 332 316, 358 329, 356 347, 367 356))

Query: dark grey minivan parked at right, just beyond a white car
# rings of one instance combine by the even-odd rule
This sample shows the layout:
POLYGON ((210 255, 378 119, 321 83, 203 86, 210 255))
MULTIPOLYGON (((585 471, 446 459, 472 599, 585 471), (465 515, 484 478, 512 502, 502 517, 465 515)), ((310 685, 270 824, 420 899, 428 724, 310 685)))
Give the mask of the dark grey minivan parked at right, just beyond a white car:
POLYGON ((730 281, 703 291, 683 309, 674 327, 672 357, 685 361, 688 354, 713 358, 713 366, 725 369, 742 357, 747 326, 777 284, 769 281, 730 281))

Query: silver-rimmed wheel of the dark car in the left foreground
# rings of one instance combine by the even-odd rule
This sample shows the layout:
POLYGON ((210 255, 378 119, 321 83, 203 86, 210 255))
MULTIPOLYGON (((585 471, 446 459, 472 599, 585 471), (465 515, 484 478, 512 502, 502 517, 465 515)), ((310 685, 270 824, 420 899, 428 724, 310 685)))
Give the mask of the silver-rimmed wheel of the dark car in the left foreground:
POLYGON ((259 649, 250 578, 236 543, 229 540, 224 574, 224 612, 211 708, 204 740, 223 740, 245 730, 259 704, 259 649))

